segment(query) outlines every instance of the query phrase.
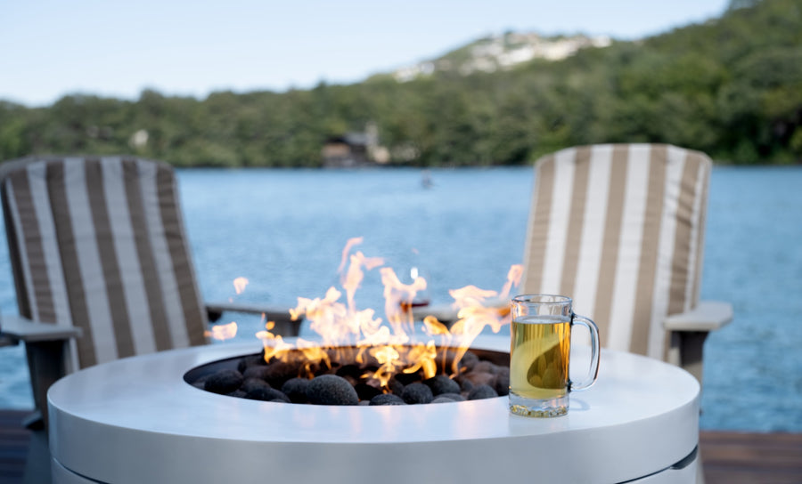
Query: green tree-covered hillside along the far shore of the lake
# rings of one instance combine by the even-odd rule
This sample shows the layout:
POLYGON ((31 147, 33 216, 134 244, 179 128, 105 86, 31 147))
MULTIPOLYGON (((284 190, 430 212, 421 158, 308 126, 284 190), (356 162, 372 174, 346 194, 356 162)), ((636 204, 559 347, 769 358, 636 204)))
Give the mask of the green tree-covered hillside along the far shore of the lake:
MULTIPOLYGON (((481 66, 469 44, 403 79, 205 100, 145 90, 137 101, 69 95, 45 108, 0 101, 0 159, 125 153, 186 167, 523 165, 569 146, 643 141, 733 164, 798 164, 800 26, 798 0, 732 0, 703 24, 497 69, 437 69, 466 56, 481 66)), ((520 51, 515 39, 524 37, 494 42, 520 51)))

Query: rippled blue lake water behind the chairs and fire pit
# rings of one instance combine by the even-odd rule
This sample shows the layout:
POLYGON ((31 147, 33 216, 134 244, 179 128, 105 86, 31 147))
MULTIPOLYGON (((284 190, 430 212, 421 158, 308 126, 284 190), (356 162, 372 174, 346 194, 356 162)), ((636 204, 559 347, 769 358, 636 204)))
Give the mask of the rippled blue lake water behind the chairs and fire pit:
MULTIPOLYGON (((435 303, 449 302, 450 288, 500 289, 521 260, 531 168, 432 170, 431 179, 424 189, 412 169, 180 171, 204 297, 291 305, 323 296, 352 237, 398 272, 423 268, 435 303), (239 295, 237 277, 250 280, 239 295)), ((732 302, 735 319, 705 346, 704 429, 802 432, 800 187, 802 167, 713 171, 702 297, 732 302)), ((381 308, 378 274, 356 303, 381 308)), ((4 243, 0 310, 16 311, 4 243)), ((240 341, 260 329, 258 318, 237 321, 240 341)), ((0 408, 29 407, 24 351, 0 348, 0 408)))

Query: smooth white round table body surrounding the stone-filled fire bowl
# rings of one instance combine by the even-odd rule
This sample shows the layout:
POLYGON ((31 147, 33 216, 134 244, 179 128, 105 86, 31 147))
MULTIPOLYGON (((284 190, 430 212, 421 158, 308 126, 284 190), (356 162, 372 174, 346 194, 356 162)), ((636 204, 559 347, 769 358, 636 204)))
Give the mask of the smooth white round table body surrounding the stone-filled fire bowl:
MULTIPOLYGON (((473 346, 507 352, 509 337, 473 346)), ((164 351, 62 378, 48 392, 53 480, 651 483, 695 477, 699 383, 655 359, 602 351, 597 383, 571 393, 569 415, 544 419, 511 415, 507 397, 333 407, 237 399, 184 382, 193 367, 259 350, 258 343, 236 343, 164 351)))

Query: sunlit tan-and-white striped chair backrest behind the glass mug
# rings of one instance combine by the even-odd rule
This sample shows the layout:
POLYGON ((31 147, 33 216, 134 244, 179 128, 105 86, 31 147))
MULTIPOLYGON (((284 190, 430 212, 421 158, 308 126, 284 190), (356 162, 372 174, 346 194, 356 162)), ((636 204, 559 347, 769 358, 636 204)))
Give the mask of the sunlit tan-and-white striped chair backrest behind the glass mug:
POLYGON ((565 294, 602 345, 667 359, 699 303, 710 159, 666 144, 563 149, 535 165, 523 293, 565 294))

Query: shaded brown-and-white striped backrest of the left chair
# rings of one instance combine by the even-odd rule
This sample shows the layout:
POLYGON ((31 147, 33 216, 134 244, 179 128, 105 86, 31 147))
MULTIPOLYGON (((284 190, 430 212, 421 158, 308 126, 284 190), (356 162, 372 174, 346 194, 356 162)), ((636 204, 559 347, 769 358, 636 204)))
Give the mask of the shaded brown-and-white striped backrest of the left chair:
POLYGON ((25 158, 0 190, 20 315, 81 327, 79 367, 206 343, 169 165, 25 158))

